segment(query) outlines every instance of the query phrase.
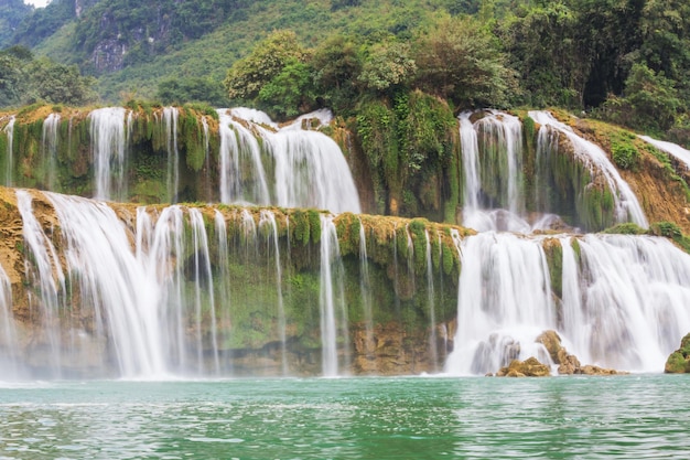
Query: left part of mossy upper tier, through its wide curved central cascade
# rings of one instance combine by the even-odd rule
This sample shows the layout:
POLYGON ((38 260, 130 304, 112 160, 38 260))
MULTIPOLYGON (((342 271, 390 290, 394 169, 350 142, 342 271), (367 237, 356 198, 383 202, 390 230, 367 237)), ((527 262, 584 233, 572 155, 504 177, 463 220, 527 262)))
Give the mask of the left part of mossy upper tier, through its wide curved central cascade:
POLYGON ((320 110, 281 129, 266 114, 242 108, 218 114, 177 107, 50 113, 22 120, 18 136, 17 117, 9 119, 0 130, 7 139, 0 156, 6 185, 112 201, 359 212, 357 189, 337 143, 303 129, 330 119, 320 110))

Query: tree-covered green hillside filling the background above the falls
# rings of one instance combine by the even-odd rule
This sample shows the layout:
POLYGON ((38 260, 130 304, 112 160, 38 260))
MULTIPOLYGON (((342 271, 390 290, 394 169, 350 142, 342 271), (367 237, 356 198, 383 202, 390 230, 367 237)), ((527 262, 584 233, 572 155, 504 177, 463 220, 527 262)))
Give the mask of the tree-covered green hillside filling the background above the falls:
MULTIPOLYGON (((74 86, 62 76, 78 67, 98 78, 103 103, 245 103, 288 115, 421 89, 455 110, 596 109, 689 140, 687 0, 53 0, 17 14, 26 15, 2 43, 33 55, 0 53, 0 105, 61 101, 60 88, 74 86), (295 41, 269 62, 273 31, 295 41), (22 87, 34 68, 53 78, 52 95, 22 87), (242 89, 244 77, 262 87, 242 89)), ((88 99, 88 84, 67 103, 88 99)))

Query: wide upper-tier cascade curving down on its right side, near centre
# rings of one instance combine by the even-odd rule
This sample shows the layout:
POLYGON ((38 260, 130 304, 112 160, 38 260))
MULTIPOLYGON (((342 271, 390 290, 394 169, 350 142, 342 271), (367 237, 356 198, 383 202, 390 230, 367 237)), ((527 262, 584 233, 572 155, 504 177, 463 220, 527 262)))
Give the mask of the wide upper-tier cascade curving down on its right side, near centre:
POLYGON ((257 110, 218 114, 223 203, 360 212, 349 167, 333 139, 300 129, 301 121, 278 129, 257 110))

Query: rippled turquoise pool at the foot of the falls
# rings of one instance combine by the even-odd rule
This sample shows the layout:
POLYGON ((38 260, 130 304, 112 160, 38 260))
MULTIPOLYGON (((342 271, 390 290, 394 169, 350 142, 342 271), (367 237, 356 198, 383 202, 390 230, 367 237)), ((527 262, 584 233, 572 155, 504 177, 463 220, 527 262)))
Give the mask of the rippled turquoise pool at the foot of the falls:
POLYGON ((690 456, 690 378, 0 385, 0 459, 690 456))

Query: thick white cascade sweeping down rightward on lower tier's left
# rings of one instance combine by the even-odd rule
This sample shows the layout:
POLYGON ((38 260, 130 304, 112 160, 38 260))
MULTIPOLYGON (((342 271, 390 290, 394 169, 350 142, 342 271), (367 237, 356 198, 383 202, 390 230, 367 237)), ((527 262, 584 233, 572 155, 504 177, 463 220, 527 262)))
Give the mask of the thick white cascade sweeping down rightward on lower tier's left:
MULTIPOLYGON (((108 329, 119 375, 163 375, 155 310, 159 289, 137 260, 122 223, 105 203, 45 194, 66 242, 71 286, 79 287, 80 309, 94 312, 94 336, 104 338, 108 329)), ((87 352, 86 346, 83 350, 87 352)), ((103 355, 98 361, 107 362, 103 355)))

